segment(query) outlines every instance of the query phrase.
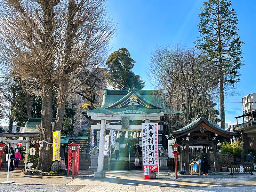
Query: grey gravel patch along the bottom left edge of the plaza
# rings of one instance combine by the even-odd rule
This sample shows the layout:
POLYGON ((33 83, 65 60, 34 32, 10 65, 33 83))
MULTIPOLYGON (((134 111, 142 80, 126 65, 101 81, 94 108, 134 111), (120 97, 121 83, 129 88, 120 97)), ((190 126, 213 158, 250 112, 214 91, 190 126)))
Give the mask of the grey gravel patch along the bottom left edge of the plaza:
POLYGON ((26 185, 26 184, 0 184, 1 192, 76 192, 84 186, 60 186, 60 185, 26 185))

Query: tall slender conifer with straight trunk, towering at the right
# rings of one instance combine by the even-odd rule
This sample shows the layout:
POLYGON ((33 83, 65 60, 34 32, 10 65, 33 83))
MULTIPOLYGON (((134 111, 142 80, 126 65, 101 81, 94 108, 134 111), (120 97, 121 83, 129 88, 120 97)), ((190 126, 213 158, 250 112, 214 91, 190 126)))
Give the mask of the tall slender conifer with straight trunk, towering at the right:
POLYGON ((238 19, 231 1, 204 1, 200 9, 198 29, 201 37, 195 44, 209 56, 213 70, 218 74, 220 126, 225 128, 224 91, 228 86, 235 88, 235 83, 240 80, 243 42, 237 33, 238 19))

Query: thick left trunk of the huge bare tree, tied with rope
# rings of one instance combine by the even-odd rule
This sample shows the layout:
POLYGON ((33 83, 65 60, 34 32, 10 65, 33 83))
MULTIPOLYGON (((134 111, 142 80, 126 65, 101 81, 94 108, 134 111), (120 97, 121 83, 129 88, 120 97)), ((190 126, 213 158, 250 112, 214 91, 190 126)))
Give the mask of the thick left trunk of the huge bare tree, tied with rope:
MULTIPOLYGON (((42 128, 40 131, 41 140, 45 140, 49 143, 52 143, 52 83, 43 84, 42 96, 42 128)), ((38 169, 44 171, 50 171, 52 165, 52 148, 49 148, 49 151, 46 151, 47 144, 43 142, 43 147, 39 152, 38 158, 38 169)))

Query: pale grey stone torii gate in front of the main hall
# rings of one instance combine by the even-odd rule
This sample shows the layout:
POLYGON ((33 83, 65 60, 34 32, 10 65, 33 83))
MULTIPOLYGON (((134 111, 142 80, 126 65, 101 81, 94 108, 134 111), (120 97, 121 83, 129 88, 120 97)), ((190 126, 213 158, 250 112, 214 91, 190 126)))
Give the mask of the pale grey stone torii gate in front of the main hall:
MULTIPOLYGON (((161 116, 164 116, 164 112, 161 113, 151 113, 151 114, 99 114, 99 113, 92 113, 87 112, 88 116, 91 116, 92 120, 100 120, 100 144, 99 144, 99 157, 98 157, 98 169, 97 172, 94 172, 94 178, 105 178, 106 173, 103 172, 103 161, 104 161, 104 141, 105 138, 103 136, 104 132, 107 129, 119 129, 120 125, 107 125, 106 127, 106 121, 111 120, 119 120, 121 121, 122 118, 129 118, 131 121, 145 121, 145 123, 149 123, 150 121, 157 121, 160 120, 161 116)), ((97 126, 97 125, 94 125, 97 126)), ((92 125, 93 127, 93 125, 92 125)), ((142 125, 133 125, 132 130, 142 129, 142 125)), ((131 129, 124 129, 124 130, 131 130, 131 129)))

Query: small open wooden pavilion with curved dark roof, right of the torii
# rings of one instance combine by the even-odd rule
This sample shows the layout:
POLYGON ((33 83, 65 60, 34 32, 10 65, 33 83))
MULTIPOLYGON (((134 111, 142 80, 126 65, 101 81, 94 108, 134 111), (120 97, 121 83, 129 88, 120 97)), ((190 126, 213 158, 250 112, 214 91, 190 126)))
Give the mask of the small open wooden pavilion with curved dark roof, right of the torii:
MULTIPOLYGON (((218 125, 213 124, 207 119, 204 114, 200 114, 194 119, 192 119, 188 125, 185 127, 170 132, 166 137, 171 139, 176 139, 176 143, 180 144, 182 147, 185 147, 185 165, 186 165, 186 174, 189 173, 189 146, 204 146, 207 149, 208 157, 210 157, 209 148, 212 147, 213 150, 213 159, 214 159, 214 168, 215 173, 218 173, 218 161, 217 161, 217 144, 218 140, 228 139, 235 136, 236 133, 226 131, 225 129, 220 128, 218 125), (209 147, 209 148, 207 148, 209 147)), ((181 150, 181 158, 184 156, 184 150, 181 150)), ((184 159, 181 159, 183 162, 184 159)), ((208 162, 210 164, 209 158, 208 162)), ((210 167, 210 166, 209 166, 210 167)))

